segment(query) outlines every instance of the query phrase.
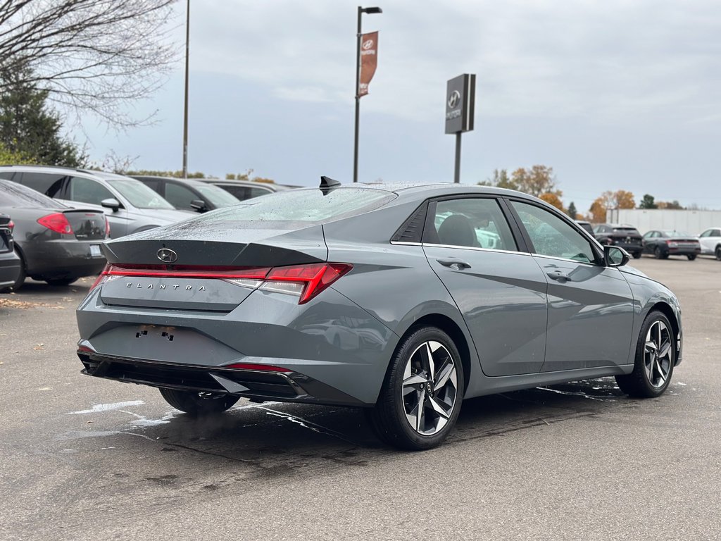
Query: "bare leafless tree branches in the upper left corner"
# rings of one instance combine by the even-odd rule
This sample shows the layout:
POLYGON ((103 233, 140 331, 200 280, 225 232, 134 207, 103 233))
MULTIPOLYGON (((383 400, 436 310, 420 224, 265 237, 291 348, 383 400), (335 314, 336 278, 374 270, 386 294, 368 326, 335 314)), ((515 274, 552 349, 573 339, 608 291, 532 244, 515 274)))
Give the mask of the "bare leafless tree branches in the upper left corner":
POLYGON ((0 0, 0 79, 27 66, 19 83, 47 91, 55 104, 133 126, 124 106, 159 88, 177 57, 167 24, 173 3, 0 0))

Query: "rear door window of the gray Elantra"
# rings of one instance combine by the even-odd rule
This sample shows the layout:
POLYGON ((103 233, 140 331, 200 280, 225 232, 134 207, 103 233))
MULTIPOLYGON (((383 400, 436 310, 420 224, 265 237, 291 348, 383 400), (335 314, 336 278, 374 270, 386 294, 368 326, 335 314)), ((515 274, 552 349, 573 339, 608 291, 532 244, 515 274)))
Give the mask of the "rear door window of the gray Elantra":
POLYGON ((438 201, 433 228, 423 242, 446 246, 516 251, 516 240, 495 199, 438 201))

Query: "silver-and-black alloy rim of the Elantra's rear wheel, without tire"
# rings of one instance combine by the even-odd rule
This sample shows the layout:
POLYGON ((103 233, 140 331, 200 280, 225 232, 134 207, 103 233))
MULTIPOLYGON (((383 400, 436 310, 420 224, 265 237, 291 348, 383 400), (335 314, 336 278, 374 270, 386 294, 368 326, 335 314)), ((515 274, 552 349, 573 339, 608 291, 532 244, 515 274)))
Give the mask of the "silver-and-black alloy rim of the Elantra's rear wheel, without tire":
POLYGON ((403 371, 403 407, 411 428, 423 436, 438 434, 458 394, 456 361, 448 349, 435 340, 418 346, 403 371))

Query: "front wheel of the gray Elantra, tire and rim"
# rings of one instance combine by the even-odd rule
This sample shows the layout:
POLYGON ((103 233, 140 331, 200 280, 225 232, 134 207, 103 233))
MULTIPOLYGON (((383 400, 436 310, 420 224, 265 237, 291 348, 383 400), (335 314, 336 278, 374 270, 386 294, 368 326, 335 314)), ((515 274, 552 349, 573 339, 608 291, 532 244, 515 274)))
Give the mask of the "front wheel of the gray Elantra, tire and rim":
POLYGON ((638 398, 653 398, 663 395, 671 383, 673 364, 676 362, 676 335, 668 317, 654 310, 647 315, 636 343, 634 369, 631 374, 616 376, 619 388, 627 395, 638 398), (660 325, 660 327, 657 327, 660 325), (652 330, 653 327, 653 330, 652 330), (663 328, 665 327, 665 329, 663 328), (656 330, 661 338, 655 338, 656 330), (648 340, 650 333, 653 339, 648 340), (658 341, 660 347, 648 346, 658 341), (658 355, 661 352, 662 355, 658 355))

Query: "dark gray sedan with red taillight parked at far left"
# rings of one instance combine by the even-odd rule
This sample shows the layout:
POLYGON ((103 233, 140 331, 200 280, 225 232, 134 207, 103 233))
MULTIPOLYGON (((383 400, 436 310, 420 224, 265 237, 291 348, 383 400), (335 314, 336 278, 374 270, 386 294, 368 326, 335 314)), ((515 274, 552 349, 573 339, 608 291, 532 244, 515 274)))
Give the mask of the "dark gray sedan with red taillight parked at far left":
POLYGON ((102 211, 71 208, 16 182, 0 179, 0 212, 11 214, 14 251, 20 272, 13 289, 26 276, 51 286, 66 286, 81 276, 102 271, 108 223, 102 211))

